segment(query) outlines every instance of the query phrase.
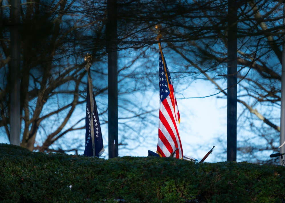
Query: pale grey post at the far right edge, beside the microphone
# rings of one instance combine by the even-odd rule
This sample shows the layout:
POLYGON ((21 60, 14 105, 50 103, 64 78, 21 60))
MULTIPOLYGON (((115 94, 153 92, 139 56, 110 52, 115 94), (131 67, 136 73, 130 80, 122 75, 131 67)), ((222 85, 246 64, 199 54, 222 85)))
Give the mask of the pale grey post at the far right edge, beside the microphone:
MULTIPOLYGON (((283 3, 283 25, 285 24, 285 7, 283 3)), ((280 146, 285 141, 285 35, 282 45, 282 75, 281 75, 281 117, 280 117, 280 146)), ((285 153, 285 146, 280 147, 280 153, 285 153)), ((279 158, 279 164, 282 165, 282 159, 279 158)))

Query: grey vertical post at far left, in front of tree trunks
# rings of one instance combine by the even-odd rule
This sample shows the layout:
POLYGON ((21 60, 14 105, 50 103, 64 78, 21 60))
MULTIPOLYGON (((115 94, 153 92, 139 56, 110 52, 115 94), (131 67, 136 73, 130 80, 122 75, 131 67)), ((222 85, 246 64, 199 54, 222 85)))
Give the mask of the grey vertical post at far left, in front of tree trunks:
POLYGON ((11 1, 11 62, 10 62, 10 76, 11 76, 11 92, 10 92, 10 144, 20 145, 20 80, 21 80, 21 68, 20 68, 20 22, 21 22, 21 10, 20 0, 11 1))

